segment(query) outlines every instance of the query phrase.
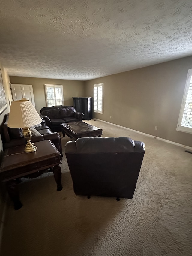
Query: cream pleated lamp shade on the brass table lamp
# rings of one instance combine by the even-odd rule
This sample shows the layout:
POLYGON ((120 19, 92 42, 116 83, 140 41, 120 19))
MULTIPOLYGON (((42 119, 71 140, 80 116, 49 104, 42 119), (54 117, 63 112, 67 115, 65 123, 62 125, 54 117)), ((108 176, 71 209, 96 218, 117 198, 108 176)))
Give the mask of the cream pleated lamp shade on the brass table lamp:
POLYGON ((42 119, 29 98, 22 98, 19 101, 11 102, 8 127, 24 128, 38 125, 41 122, 42 119))

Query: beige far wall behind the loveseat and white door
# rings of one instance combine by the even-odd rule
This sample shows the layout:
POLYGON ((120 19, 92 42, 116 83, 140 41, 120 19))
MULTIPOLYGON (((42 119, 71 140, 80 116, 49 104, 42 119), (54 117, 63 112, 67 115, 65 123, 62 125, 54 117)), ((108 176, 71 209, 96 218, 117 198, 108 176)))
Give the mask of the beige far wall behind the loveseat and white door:
POLYGON ((42 107, 46 107, 44 84, 63 85, 64 105, 73 105, 72 97, 85 97, 84 81, 10 76, 10 82, 12 84, 32 84, 35 107, 38 113, 40 113, 42 107))

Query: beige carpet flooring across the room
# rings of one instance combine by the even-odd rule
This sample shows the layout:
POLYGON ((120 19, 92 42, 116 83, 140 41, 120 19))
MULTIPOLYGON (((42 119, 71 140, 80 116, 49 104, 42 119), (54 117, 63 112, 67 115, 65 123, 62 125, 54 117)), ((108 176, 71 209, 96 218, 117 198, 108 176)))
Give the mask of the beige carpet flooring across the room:
MULTIPOLYGON (((64 155, 62 191, 52 173, 19 184, 23 207, 8 201, 2 256, 192 255, 192 155, 108 123, 85 121, 103 137, 146 144, 133 199, 76 196, 64 155)), ((69 137, 62 138, 62 146, 69 137)))

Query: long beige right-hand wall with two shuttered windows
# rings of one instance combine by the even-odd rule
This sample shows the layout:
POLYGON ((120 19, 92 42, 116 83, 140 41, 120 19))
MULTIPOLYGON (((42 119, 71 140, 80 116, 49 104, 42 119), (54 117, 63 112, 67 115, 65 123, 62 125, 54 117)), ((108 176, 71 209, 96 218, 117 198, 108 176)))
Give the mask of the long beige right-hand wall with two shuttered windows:
POLYGON ((104 114, 93 116, 192 147, 192 134, 176 131, 190 68, 192 56, 86 81, 87 97, 104 83, 104 114))

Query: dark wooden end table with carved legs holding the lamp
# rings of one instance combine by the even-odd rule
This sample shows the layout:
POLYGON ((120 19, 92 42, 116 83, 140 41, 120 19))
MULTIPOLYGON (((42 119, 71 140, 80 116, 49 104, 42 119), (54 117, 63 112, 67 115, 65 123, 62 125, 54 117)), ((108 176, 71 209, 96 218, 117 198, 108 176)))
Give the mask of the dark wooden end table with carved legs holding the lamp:
POLYGON ((13 200, 14 209, 22 207, 19 200, 19 189, 17 178, 51 168, 57 191, 62 190, 60 153, 50 140, 43 140, 35 143, 37 150, 32 153, 25 153, 25 145, 5 149, 0 167, 0 180, 7 182, 8 194, 13 200))

